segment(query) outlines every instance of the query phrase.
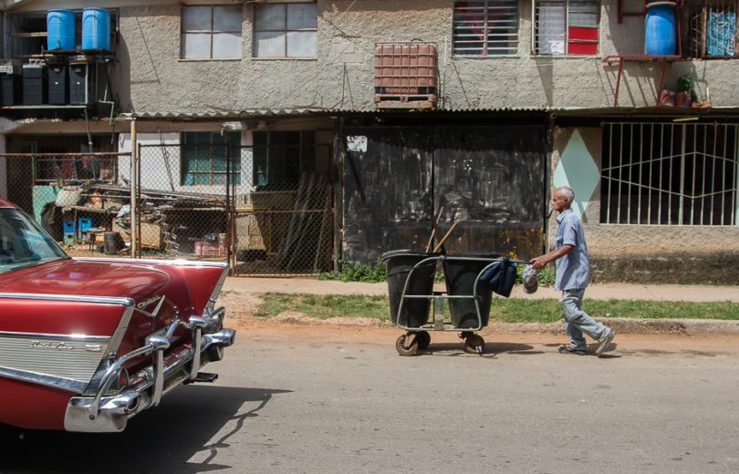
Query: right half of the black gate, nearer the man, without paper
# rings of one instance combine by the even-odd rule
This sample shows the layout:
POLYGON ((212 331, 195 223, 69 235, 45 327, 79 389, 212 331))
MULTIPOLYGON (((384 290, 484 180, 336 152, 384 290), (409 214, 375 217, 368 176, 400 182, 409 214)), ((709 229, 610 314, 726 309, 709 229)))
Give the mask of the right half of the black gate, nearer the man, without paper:
POLYGON ((433 201, 448 252, 538 255, 546 205, 544 128, 434 129, 433 201))

